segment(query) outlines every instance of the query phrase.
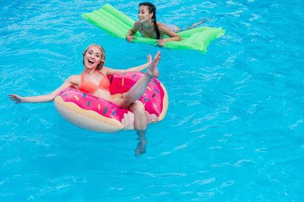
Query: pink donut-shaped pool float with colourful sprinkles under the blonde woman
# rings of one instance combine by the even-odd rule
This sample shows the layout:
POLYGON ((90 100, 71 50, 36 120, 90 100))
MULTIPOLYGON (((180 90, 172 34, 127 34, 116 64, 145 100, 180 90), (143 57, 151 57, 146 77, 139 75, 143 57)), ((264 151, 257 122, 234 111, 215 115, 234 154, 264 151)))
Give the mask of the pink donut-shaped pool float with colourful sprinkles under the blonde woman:
MULTIPOLYGON (((112 97, 129 91, 142 76, 142 72, 108 75, 112 97)), ((158 123, 165 118, 168 93, 158 79, 150 81, 138 100, 145 107, 148 123, 158 123)), ((107 133, 134 130, 133 112, 76 88, 70 87, 60 91, 54 101, 55 108, 62 118, 80 128, 107 133)))

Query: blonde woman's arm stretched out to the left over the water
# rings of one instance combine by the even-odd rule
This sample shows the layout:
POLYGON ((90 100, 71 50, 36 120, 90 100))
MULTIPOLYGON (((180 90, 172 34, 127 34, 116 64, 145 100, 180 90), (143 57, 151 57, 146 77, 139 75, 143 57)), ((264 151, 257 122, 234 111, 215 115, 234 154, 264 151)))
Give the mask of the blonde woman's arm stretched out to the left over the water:
POLYGON ((11 100, 15 101, 15 104, 18 103, 48 103, 53 102, 56 95, 60 92, 60 90, 63 90, 64 88, 68 88, 72 86, 73 84, 77 83, 77 76, 72 75, 66 79, 66 81, 56 90, 51 92, 47 95, 38 95, 38 96, 31 96, 31 97, 21 97, 17 94, 9 94, 11 100))

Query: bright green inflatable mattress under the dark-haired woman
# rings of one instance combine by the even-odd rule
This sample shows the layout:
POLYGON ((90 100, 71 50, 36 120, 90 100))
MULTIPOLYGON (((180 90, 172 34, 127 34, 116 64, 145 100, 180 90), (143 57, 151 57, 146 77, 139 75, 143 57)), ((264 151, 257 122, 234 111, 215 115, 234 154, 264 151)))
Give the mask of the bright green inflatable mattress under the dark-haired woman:
MULTIPOLYGON (((134 24, 134 20, 109 4, 104 5, 98 11, 84 13, 81 16, 89 23, 100 28, 111 36, 124 40, 126 40, 126 35, 134 24)), ((186 31, 181 31, 178 32, 178 34, 182 37, 182 40, 168 41, 165 43, 164 48, 178 50, 194 49, 205 54, 207 52, 207 46, 214 39, 222 36, 225 31, 226 30, 223 30, 221 27, 198 27, 186 31)), ((133 42, 135 43, 145 43, 153 46, 157 45, 157 43, 155 43, 157 39, 142 37, 139 32, 134 34, 134 36, 136 37, 136 39, 133 39, 133 42)))

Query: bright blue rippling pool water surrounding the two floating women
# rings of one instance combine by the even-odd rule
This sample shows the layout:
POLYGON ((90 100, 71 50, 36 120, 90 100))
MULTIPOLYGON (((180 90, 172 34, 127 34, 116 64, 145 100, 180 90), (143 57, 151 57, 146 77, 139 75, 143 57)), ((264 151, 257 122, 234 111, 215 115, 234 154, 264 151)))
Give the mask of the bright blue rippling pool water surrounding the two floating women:
MULTIPOLYGON (((160 48, 111 37, 80 15, 106 1, 0 3, 0 201, 303 201, 304 3, 155 1, 157 19, 222 27, 205 55, 162 51, 165 120, 134 131, 75 127, 54 103, 14 105, 8 93, 52 92, 101 44, 106 66, 129 68, 160 48)), ((139 2, 110 4, 134 20, 139 2)))

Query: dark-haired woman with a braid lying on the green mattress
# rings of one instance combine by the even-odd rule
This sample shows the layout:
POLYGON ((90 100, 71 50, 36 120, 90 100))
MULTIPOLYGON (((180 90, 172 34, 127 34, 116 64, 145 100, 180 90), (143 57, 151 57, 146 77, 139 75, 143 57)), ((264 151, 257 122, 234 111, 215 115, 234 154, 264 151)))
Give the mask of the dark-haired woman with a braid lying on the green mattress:
MULTIPOLYGON (((192 25, 190 28, 197 26, 205 20, 192 25)), ((189 29, 189 28, 188 28, 189 29)), ((184 30, 184 29, 183 29, 184 30)), ((156 8, 153 4, 144 2, 139 4, 138 9, 138 21, 136 21, 133 27, 128 31, 126 39, 129 42, 133 42, 133 36, 137 31, 140 32, 142 37, 158 39, 159 46, 164 46, 167 41, 180 41, 182 38, 176 33, 180 31, 180 28, 175 25, 165 25, 156 20, 156 8), (170 38, 164 38, 164 35, 170 38)))

